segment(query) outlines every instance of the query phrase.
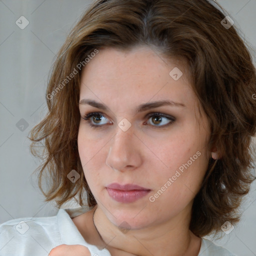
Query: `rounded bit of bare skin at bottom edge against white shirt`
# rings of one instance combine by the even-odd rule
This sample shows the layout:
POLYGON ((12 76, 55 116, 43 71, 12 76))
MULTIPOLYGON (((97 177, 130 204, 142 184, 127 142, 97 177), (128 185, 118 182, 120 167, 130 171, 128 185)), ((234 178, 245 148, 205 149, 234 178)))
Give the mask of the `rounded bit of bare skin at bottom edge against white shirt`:
POLYGON ((91 256, 87 247, 79 244, 61 244, 53 248, 48 256, 91 256))

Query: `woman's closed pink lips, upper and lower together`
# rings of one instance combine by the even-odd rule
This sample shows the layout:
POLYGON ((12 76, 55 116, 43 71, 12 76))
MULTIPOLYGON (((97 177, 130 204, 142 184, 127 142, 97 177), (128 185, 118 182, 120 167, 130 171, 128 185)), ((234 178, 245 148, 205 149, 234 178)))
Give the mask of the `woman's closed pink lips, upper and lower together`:
POLYGON ((118 202, 134 202, 139 198, 145 196, 151 189, 141 187, 135 184, 120 185, 118 183, 111 183, 106 186, 109 196, 118 202))

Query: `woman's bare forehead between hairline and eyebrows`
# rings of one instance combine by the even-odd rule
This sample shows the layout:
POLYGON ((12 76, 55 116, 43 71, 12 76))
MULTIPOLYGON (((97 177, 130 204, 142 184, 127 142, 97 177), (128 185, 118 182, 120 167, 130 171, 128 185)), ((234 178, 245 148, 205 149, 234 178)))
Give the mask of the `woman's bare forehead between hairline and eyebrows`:
POLYGON ((167 61, 147 46, 99 49, 82 70, 80 99, 115 104, 168 99, 193 105, 195 95, 185 71, 181 61, 167 61))

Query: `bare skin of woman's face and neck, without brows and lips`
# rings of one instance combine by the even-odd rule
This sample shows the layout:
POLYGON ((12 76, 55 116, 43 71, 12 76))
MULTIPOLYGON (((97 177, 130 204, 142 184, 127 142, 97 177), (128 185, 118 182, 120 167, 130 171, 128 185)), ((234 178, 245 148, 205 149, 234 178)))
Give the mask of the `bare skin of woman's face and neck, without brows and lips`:
POLYGON ((129 51, 100 49, 82 72, 80 100, 91 99, 105 104, 109 110, 80 104, 78 151, 85 178, 95 196, 97 206, 93 227, 91 212, 73 219, 86 241, 105 244, 111 255, 197 255, 200 238, 189 230, 191 206, 200 188, 211 152, 207 118, 202 109, 200 119, 196 96, 185 77, 185 65, 167 61, 146 46, 129 51), (169 72, 178 67, 183 75, 174 80, 169 72), (172 100, 185 106, 165 105, 136 113, 142 103, 172 100), (101 120, 86 114, 100 112, 101 120), (157 116, 166 117, 157 123, 157 116), (119 126, 126 118, 131 126, 119 126), (165 126, 164 126, 165 125, 165 126), (190 157, 200 155, 191 160, 190 157), (178 177, 172 178, 182 164, 191 160, 178 177), (173 182, 150 201, 149 197, 171 178, 173 182), (133 183, 151 189, 135 202, 113 200, 106 190, 112 182, 133 183), (88 228, 90 227, 90 228, 88 228), (126 229, 125 229, 126 228, 126 229), (106 245, 107 244, 107 245, 106 245))

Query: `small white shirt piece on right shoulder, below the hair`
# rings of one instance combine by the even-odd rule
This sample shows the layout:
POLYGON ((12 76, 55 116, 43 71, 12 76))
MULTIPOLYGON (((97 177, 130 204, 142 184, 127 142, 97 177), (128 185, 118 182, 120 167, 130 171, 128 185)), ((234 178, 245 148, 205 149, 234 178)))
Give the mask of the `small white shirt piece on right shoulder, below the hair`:
POLYGON ((198 256, 237 256, 226 248, 216 245, 212 241, 202 238, 198 256))

